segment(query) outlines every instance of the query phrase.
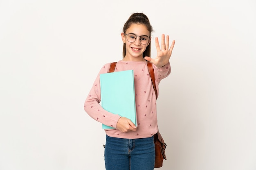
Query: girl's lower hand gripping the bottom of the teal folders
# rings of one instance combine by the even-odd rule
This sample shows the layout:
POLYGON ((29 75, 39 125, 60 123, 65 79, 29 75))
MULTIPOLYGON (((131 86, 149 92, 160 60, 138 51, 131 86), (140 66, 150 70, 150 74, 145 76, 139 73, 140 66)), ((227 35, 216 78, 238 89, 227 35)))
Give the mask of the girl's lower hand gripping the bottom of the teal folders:
POLYGON ((130 119, 121 117, 117 122, 117 129, 123 133, 126 133, 130 131, 136 131, 137 127, 134 123, 132 123, 130 119))

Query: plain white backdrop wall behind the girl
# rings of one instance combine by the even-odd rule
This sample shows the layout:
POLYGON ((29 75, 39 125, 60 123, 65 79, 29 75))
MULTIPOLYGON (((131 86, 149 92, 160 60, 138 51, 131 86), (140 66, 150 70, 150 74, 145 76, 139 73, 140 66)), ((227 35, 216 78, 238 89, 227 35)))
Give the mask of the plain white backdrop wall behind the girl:
POLYGON ((176 40, 157 100, 161 169, 256 170, 254 0, 0 0, 0 170, 105 169, 83 102, 122 59, 133 12, 176 40))

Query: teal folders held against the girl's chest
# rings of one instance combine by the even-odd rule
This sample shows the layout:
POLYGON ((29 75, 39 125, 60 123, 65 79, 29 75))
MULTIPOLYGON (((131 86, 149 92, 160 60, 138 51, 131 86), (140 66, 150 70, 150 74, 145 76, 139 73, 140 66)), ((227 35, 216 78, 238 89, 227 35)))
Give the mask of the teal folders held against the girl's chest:
MULTIPOLYGON (((137 126, 133 70, 100 74, 101 107, 137 126)), ((102 129, 114 129, 102 124, 102 129)))

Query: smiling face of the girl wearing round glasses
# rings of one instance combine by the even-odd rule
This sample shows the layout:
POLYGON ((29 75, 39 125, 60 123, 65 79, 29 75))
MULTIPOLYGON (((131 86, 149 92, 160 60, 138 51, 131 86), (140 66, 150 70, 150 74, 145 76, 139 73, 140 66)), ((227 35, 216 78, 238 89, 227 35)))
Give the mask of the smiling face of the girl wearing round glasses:
POLYGON ((143 40, 140 41, 141 36, 145 35, 149 37, 150 33, 146 26, 142 24, 131 24, 131 26, 126 30, 126 33, 121 33, 122 40, 126 44, 125 61, 145 61, 143 58, 143 52, 150 43, 149 39, 148 43, 141 44, 141 41, 143 42, 143 40), (137 36, 134 42, 129 42, 127 40, 127 34, 130 33, 137 36))

